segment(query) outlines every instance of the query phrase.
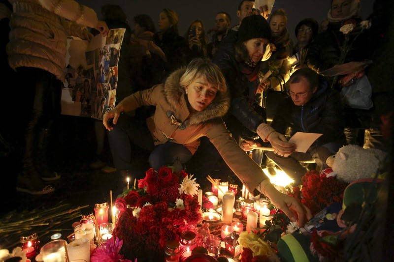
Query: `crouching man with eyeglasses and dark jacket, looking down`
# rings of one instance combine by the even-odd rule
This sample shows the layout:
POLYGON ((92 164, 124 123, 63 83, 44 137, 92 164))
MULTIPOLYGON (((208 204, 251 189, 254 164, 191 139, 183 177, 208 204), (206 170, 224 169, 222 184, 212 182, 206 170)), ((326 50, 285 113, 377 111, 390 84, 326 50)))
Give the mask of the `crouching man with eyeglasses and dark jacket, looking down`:
POLYGON ((323 76, 303 67, 294 72, 289 83, 289 97, 279 103, 271 127, 282 134, 289 128, 290 136, 296 132, 323 134, 306 153, 294 152, 284 157, 266 151, 266 156, 298 185, 301 184, 301 177, 308 172, 299 161, 313 159, 321 172, 328 167, 328 156, 346 145, 346 139, 339 93, 328 86, 323 76))

